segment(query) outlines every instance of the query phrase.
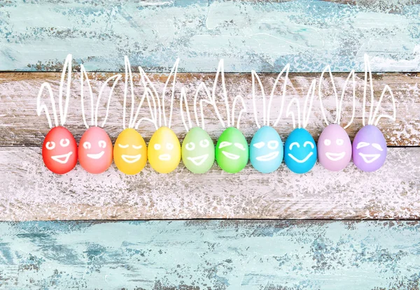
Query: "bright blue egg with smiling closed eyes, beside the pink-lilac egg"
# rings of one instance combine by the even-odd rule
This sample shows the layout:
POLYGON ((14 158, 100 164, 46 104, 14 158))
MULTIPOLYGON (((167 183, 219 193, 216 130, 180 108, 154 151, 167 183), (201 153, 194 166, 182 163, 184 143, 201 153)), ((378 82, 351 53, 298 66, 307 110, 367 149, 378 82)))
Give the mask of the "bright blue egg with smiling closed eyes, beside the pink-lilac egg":
POLYGON ((284 163, 294 173, 307 173, 316 163, 316 143, 302 128, 290 133, 284 143, 284 163))

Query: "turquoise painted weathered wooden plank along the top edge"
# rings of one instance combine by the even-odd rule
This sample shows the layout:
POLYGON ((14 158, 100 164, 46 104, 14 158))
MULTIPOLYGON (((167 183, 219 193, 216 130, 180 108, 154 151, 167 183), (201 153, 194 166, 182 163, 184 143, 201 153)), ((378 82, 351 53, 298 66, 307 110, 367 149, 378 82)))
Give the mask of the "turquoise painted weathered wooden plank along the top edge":
POLYGON ((0 70, 60 71, 67 53, 90 71, 147 71, 181 57, 186 72, 420 71, 416 0, 1 1, 0 70))

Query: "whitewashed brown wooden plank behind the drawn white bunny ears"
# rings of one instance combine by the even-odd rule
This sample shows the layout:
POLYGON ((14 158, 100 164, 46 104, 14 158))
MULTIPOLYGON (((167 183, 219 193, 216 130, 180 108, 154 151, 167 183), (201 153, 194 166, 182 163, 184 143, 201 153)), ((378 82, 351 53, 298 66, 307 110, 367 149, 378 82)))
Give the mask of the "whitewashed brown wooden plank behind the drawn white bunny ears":
MULTIPOLYGON (((134 68, 133 68, 134 69, 134 68)), ((138 70, 137 70, 138 71, 138 70)), ((90 78, 92 80, 92 87, 95 94, 102 86, 102 83, 111 74, 109 73, 92 73, 90 78)), ((149 74, 158 92, 161 94, 167 75, 165 74, 149 74)), ((232 107, 232 100, 237 94, 244 96, 247 113, 242 117, 241 131, 248 140, 250 140, 257 130, 255 125, 253 106, 252 106, 252 86, 250 73, 226 73, 226 86, 228 90, 228 98, 230 99, 230 106, 232 107)), ((263 82, 265 94, 269 94, 272 90, 276 74, 260 74, 263 82)), ((134 73, 134 93, 136 94, 136 102, 144 92, 144 87, 140 85, 138 74, 134 73)), ((311 80, 318 79, 320 73, 307 74, 290 74, 291 85, 288 86, 285 104, 293 97, 300 97, 301 102, 304 101, 309 89, 311 80)), ((347 75, 344 73, 335 73, 334 80, 337 85, 337 92, 341 94, 344 81, 347 75)), ((25 146, 41 146, 44 136, 48 133, 48 123, 43 113, 38 117, 36 115, 36 96, 38 89, 42 82, 48 81, 52 84, 52 89, 55 96, 58 96, 59 90, 59 73, 0 73, 0 145, 25 145, 25 146)), ((69 114, 67 116, 66 127, 73 133, 76 140, 79 140, 85 132, 83 120, 80 109, 80 80, 78 73, 73 75, 73 83, 71 87, 71 100, 69 106, 69 114)), ((190 109, 193 110, 193 97, 200 82, 207 83, 209 89, 213 87, 214 73, 179 73, 177 77, 175 102, 174 102, 174 116, 172 119, 172 129, 179 136, 183 138, 186 131, 181 121, 181 113, 179 107, 179 96, 182 85, 186 86, 188 94, 188 101, 190 109)), ((385 85, 389 85, 393 90, 396 100, 397 120, 392 122, 389 119, 381 119, 379 122, 379 129, 384 133, 386 141, 389 146, 418 146, 420 145, 420 88, 419 88, 419 73, 385 73, 374 75, 374 94, 377 102, 385 85)), ((353 138, 356 132, 362 125, 362 102, 363 102, 363 73, 356 75, 356 118, 353 124, 347 129, 349 136, 353 138)), ((276 94, 273 99, 271 119, 272 122, 279 115, 281 107, 281 83, 277 86, 276 94)), ((221 88, 220 83, 218 88, 221 88)), ((121 81, 114 90, 113 99, 111 99, 111 106, 109 109, 109 118, 106 122, 105 129, 115 140, 118 134, 123 130, 123 90, 124 82, 121 81)), ((346 96, 344 97, 342 124, 347 124, 351 117, 351 88, 347 87, 346 96)), ((260 89, 256 90, 258 119, 262 122, 262 97, 260 89)), ((323 81, 323 100, 324 107, 327 111, 327 117, 332 122, 335 119, 335 99, 332 95, 332 87, 328 80, 323 81)), ((200 94, 204 96, 204 94, 200 94)), ((221 99, 221 94, 217 95, 218 108, 221 115, 226 119, 225 106, 221 99)), ((45 96, 45 102, 49 103, 48 97, 45 96)), ((169 102, 167 105, 167 112, 169 111, 169 102)), ((382 102, 380 113, 391 112, 391 99, 386 96, 382 102)), ((105 115, 106 103, 99 107, 99 118, 105 115)), ((87 106, 87 105, 85 105, 87 106)), ((279 125, 276 126, 277 131, 281 134, 283 140, 293 130, 290 117, 286 117, 286 106, 283 110, 283 115, 279 125)), ((130 103, 127 106, 130 108, 130 103)), ((87 107, 89 108, 89 107, 87 107)), ((367 111, 370 108, 370 101, 367 101, 367 111)), ((239 107, 237 109, 239 112, 239 107)), ((214 109, 207 105, 204 108, 206 117, 206 130, 209 132, 211 138, 216 140, 223 131, 223 126, 216 118, 214 109)), ((367 112, 368 113, 368 112, 367 112)), ((145 106, 141 110, 141 117, 148 115, 148 108, 145 106)), ((237 115, 237 113, 236 113, 237 115)), ((193 116, 193 113, 192 113, 193 116)), ((87 115, 90 118, 90 115, 87 115)), ((128 121, 127 121, 128 122, 128 121)), ((307 129, 311 132, 317 140, 321 131, 325 128, 325 122, 321 114, 320 103, 318 101, 318 90, 314 100, 311 117, 307 129)), ((139 131, 146 140, 153 135, 155 128, 151 123, 144 122, 141 124, 139 131)))

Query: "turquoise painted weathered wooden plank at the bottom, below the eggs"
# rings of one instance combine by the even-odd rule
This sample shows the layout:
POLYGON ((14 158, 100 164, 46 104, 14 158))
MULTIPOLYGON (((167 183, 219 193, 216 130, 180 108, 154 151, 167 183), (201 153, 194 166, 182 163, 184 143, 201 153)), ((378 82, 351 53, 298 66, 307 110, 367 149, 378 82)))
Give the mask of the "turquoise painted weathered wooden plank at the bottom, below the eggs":
POLYGON ((5 289, 420 285, 419 222, 3 222, 0 233, 5 289))

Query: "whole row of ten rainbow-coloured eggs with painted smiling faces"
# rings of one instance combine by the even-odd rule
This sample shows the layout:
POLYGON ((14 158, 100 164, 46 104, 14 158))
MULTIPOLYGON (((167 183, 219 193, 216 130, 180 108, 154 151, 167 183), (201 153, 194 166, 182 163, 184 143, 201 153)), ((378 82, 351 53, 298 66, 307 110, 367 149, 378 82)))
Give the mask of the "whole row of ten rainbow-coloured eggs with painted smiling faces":
POLYGON ((218 166, 228 173, 241 171, 248 159, 262 172, 276 171, 284 159, 294 173, 307 173, 316 159, 330 171, 345 168, 353 163, 363 171, 376 171, 386 159, 386 141, 376 126, 364 126, 353 140, 337 124, 328 125, 318 139, 318 146, 311 134, 302 128, 294 129, 286 142, 271 126, 262 126, 248 146, 244 134, 235 127, 225 129, 218 138, 216 148, 209 134, 195 127, 188 131, 182 147, 179 139, 167 126, 153 134, 148 146, 135 129, 125 129, 115 145, 104 129, 94 126, 87 129, 79 146, 69 130, 57 126, 45 136, 42 149, 43 161, 50 171, 64 174, 76 166, 77 160, 89 173, 102 173, 112 161, 127 175, 139 173, 148 160, 159 173, 169 173, 183 164, 193 173, 209 171, 216 159, 218 166), (182 153, 182 154, 181 154, 182 153))

